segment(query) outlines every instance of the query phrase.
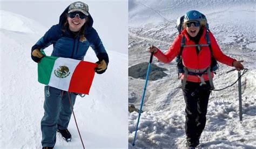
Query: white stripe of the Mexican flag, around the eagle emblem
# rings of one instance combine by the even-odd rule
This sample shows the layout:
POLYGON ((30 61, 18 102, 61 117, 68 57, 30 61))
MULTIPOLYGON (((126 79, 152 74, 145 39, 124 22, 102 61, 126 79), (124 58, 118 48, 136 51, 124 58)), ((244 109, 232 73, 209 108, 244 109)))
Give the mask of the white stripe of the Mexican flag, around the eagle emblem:
POLYGON ((51 72, 49 86, 56 87, 56 88, 64 90, 64 91, 68 91, 71 77, 72 77, 73 72, 75 71, 76 66, 78 65, 79 62, 80 62, 80 60, 71 59, 71 58, 62 58, 62 57, 57 58, 55 60, 55 64, 54 64, 52 72, 51 72), (65 78, 57 77, 55 75, 55 73, 59 66, 67 66, 69 68, 69 72, 70 72, 69 76, 67 76, 65 78))

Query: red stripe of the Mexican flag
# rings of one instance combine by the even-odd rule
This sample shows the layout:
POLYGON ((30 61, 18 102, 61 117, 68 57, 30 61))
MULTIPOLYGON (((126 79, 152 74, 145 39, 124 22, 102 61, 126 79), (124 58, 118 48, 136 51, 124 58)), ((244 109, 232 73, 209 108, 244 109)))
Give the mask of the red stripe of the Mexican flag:
POLYGON ((69 92, 89 94, 96 63, 80 61, 70 80, 69 92))

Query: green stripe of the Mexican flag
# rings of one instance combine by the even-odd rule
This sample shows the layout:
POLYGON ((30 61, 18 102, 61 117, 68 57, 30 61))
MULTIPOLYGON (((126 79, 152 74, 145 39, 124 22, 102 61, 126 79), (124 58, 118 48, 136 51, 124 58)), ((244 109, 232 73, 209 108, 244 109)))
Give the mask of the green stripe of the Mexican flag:
POLYGON ((38 63, 38 82, 42 84, 49 84, 51 72, 58 57, 45 56, 38 63))

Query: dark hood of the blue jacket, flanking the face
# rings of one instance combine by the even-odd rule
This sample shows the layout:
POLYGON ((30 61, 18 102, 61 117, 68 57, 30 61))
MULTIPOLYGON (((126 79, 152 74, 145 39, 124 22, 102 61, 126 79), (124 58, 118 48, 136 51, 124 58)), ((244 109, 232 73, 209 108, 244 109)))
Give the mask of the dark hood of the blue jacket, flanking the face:
MULTIPOLYGON (((69 6, 62 12, 62 14, 59 16, 59 25, 63 26, 63 24, 66 21, 66 15, 68 14, 69 6)), ((92 29, 93 19, 91 15, 87 16, 88 20, 85 23, 85 31, 84 33, 88 33, 92 29)))

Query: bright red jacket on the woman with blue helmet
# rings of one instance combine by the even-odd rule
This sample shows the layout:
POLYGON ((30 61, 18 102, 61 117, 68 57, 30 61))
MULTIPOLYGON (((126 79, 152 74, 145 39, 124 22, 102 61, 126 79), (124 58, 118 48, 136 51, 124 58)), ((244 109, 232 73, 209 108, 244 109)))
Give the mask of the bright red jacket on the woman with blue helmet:
MULTIPOLYGON (((200 37, 199 44, 207 44, 205 34, 206 29, 204 29, 204 32, 200 37)), ((217 41, 212 35, 212 33, 208 32, 208 35, 211 41, 213 57, 220 63, 232 66, 232 63, 235 61, 235 59, 224 55, 224 53, 221 52, 219 45, 217 44, 217 41)), ((154 53, 154 56, 157 57, 161 62, 170 63, 180 53, 180 44, 182 36, 185 36, 186 38, 185 45, 196 44, 193 42, 193 40, 190 40, 187 31, 184 29, 180 33, 180 35, 178 35, 174 39, 172 45, 170 46, 169 50, 166 53, 163 53, 158 49, 158 51, 154 53)), ((185 67, 188 67, 190 69, 206 69, 208 66, 211 65, 211 50, 208 46, 202 46, 201 50, 197 54, 196 46, 184 47, 181 53, 181 58, 183 60, 183 65, 185 67)), ((180 78, 183 79, 183 77, 184 74, 181 74, 180 78)), ((203 78, 204 80, 208 80, 207 74, 204 74, 203 78)), ((200 78, 198 76, 187 75, 187 81, 200 82, 200 78)))

